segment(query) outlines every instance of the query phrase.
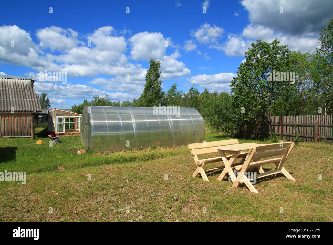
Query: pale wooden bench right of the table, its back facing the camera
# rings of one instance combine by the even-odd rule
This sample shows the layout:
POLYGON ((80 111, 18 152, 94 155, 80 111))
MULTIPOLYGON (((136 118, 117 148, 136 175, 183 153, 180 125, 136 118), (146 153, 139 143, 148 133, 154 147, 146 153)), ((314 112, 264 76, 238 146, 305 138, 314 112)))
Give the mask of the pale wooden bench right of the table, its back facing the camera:
POLYGON ((251 192, 258 193, 250 181, 253 179, 248 179, 244 173, 250 171, 254 167, 259 169, 260 174, 255 175, 255 179, 263 178, 269 175, 275 175, 282 173, 287 179, 295 181, 295 179, 289 174, 289 172, 283 167, 287 157, 289 156, 292 148, 294 147, 293 142, 283 142, 282 143, 273 143, 263 146, 256 146, 249 149, 248 154, 245 158, 245 161, 242 165, 235 166, 236 171, 238 171, 236 181, 234 181, 232 187, 237 187, 240 183, 244 183, 251 192), (277 157, 278 156, 278 157, 277 157), (261 160, 262 158, 271 159, 261 160), (264 172, 262 165, 265 164, 275 164, 275 169, 264 172))

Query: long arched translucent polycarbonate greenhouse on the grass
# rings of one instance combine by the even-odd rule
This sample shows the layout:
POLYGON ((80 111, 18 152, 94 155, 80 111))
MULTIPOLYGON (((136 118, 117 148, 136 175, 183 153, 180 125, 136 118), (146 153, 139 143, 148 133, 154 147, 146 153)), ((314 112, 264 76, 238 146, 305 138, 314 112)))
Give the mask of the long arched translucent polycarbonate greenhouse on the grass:
POLYGON ((194 108, 85 106, 81 141, 85 149, 118 151, 204 140, 204 122, 194 108), (175 113, 174 113, 175 112, 175 113))

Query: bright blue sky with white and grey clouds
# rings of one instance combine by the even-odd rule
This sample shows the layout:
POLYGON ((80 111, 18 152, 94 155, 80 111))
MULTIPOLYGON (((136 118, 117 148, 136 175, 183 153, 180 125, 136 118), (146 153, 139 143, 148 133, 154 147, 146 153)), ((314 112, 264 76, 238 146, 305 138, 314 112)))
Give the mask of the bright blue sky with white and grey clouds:
POLYGON ((177 82, 183 91, 193 83, 200 91, 229 91, 252 42, 278 38, 290 49, 314 51, 333 17, 332 1, 322 0, 1 5, 0 74, 36 77, 36 93, 47 93, 52 108, 71 108, 94 94, 138 98, 150 58, 161 60, 165 90, 177 82), (66 84, 44 81, 45 70, 63 72, 66 84))

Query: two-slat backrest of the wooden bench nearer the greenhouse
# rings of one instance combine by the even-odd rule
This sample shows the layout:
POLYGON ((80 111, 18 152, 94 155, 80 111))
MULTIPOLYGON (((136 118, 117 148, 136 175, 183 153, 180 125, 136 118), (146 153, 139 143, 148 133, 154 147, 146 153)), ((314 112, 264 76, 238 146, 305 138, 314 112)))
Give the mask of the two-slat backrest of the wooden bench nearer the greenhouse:
POLYGON ((233 145, 238 143, 239 142, 237 139, 194 143, 194 144, 189 144, 188 149, 191 150, 192 156, 196 156, 196 155, 218 152, 216 149, 213 148, 215 146, 233 145))

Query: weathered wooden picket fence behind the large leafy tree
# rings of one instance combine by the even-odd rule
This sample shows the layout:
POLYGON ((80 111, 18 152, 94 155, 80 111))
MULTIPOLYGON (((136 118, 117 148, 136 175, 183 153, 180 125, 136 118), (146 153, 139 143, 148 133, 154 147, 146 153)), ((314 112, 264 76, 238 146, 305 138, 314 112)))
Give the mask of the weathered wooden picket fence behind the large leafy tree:
MULTIPOLYGON (((333 143, 333 115, 272 116, 272 132, 283 140, 333 143), (282 133, 281 133, 282 132, 282 133)), ((246 137, 266 138, 269 129, 254 121, 244 127, 246 137)))

